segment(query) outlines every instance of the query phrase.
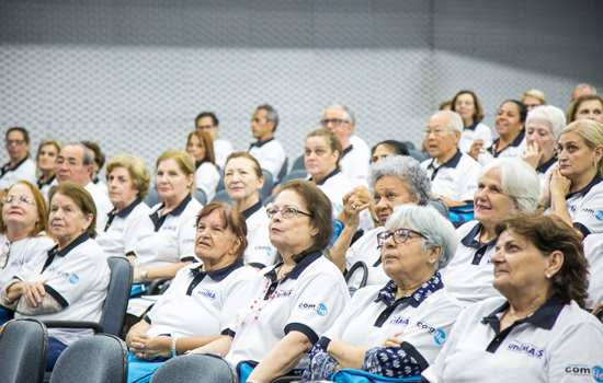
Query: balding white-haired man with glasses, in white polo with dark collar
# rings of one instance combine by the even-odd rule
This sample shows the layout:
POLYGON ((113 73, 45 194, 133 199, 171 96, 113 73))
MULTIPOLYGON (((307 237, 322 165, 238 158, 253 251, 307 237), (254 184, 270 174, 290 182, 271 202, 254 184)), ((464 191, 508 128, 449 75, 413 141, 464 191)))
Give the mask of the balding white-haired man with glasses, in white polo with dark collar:
POLYGON ((474 199, 481 166, 458 150, 463 119, 451 111, 431 116, 425 130, 425 147, 431 160, 421 166, 431 177, 431 189, 447 207, 465 205, 474 199))

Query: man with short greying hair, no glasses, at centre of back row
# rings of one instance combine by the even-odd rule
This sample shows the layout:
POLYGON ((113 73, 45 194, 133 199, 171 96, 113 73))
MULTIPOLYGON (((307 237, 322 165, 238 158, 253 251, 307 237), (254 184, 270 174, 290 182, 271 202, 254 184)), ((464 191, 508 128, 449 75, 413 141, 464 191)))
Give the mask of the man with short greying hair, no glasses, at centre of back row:
POLYGON ((278 174, 285 165, 287 155, 285 149, 274 138, 274 132, 278 126, 278 113, 269 104, 260 105, 253 112, 251 117, 251 134, 257 139, 249 146, 249 154, 253 155, 263 170, 272 174, 272 179, 276 184, 278 174))

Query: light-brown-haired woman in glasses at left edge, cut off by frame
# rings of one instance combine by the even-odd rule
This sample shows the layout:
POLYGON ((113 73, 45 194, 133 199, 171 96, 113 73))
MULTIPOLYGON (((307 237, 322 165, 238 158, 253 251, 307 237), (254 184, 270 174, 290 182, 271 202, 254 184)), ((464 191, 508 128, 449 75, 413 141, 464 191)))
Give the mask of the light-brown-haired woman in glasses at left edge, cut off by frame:
MULTIPOLYGON (((0 235, 0 290, 33 256, 54 246, 46 236, 46 202, 39 190, 27 181, 19 181, 2 198, 2 223, 0 235)), ((0 302, 0 323, 13 315, 12 310, 0 302)))

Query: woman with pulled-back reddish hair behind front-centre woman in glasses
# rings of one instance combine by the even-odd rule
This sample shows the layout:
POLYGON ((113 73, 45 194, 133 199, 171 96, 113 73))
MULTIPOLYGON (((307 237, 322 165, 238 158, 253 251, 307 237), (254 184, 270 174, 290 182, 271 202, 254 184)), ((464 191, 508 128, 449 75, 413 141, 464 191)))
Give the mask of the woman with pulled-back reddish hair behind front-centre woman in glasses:
POLYGON ((264 185, 260 163, 248 152, 231 153, 226 159, 224 183, 235 208, 246 219, 244 260, 258 268, 274 265, 276 249, 270 243, 268 233, 270 219, 260 197, 260 190, 264 185))

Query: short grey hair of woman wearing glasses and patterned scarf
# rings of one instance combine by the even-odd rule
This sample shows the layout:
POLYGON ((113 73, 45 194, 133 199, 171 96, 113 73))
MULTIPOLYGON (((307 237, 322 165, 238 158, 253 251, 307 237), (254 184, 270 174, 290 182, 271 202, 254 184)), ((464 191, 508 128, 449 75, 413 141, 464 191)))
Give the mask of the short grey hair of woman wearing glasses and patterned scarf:
POLYGON ((453 224, 431 206, 400 205, 396 207, 385 223, 385 228, 391 231, 402 227, 425 236, 422 239, 423 251, 433 246, 442 246, 436 269, 445 267, 456 253, 458 237, 453 224))

